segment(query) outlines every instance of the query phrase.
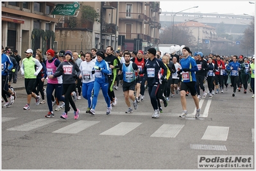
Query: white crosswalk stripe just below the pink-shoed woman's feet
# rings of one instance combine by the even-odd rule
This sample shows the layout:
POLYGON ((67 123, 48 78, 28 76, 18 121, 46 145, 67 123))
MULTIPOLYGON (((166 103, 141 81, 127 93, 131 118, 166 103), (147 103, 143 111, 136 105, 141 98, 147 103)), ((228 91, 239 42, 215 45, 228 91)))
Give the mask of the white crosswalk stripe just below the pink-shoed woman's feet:
POLYGON ((98 123, 99 121, 79 120, 74 124, 70 124, 69 126, 53 131, 53 133, 76 134, 98 123))

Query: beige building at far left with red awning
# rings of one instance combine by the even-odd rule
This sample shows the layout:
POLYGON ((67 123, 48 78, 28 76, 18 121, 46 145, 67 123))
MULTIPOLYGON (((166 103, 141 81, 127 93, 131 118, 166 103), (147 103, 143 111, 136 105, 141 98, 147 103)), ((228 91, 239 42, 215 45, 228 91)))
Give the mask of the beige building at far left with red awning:
POLYGON ((46 49, 53 47, 53 31, 58 22, 50 15, 55 4, 46 2, 2 1, 2 45, 22 58, 28 48, 46 49))

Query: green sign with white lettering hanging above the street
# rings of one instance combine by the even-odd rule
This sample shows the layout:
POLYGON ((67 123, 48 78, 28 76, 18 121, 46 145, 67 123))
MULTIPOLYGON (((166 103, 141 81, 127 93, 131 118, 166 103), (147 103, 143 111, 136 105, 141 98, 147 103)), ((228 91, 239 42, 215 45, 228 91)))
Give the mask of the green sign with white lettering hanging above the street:
POLYGON ((73 4, 56 4, 52 15, 74 15, 76 10, 79 9, 80 4, 74 2, 73 4))

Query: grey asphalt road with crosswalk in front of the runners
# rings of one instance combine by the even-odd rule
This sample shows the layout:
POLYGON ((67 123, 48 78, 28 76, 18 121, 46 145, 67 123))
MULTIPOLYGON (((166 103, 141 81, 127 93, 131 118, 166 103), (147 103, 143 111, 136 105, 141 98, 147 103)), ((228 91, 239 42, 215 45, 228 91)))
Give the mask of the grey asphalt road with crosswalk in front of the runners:
POLYGON ((2 169, 198 169, 200 155, 255 154, 255 100, 249 91, 232 97, 229 87, 224 94, 201 99, 200 119, 194 119, 191 95, 186 118, 178 117, 179 94, 166 108, 162 103, 159 118, 151 118, 147 90, 133 113, 124 113, 121 86, 115 95, 117 106, 110 115, 100 93, 95 116, 85 113, 87 101, 81 99, 76 101, 78 120, 73 110, 64 120, 64 109, 45 118, 47 104, 35 106, 34 99, 30 110, 23 110, 26 92, 17 87, 17 100, 2 108, 2 169))

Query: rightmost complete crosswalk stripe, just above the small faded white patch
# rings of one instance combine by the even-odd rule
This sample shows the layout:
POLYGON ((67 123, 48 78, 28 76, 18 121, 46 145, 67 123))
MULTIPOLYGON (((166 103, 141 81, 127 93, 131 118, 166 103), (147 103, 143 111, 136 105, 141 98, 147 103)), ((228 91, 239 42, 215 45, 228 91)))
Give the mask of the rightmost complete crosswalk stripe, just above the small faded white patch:
POLYGON ((228 138, 228 130, 229 127, 208 126, 201 140, 226 141, 228 138))

